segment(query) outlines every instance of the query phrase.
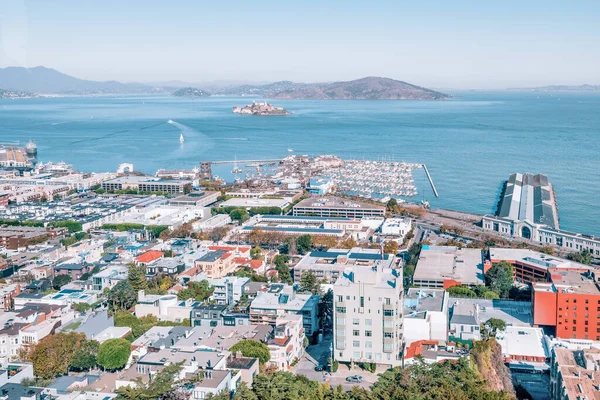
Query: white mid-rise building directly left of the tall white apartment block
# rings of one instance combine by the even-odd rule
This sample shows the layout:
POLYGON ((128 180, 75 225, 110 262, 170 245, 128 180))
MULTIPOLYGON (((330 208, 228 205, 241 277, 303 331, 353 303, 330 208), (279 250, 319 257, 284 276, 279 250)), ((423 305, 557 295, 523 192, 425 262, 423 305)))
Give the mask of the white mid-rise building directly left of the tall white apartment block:
POLYGON ((277 318, 286 314, 301 315, 305 332, 312 335, 319 330, 318 306, 318 295, 299 294, 292 286, 271 284, 266 292, 258 292, 252 300, 250 322, 275 326, 277 318))

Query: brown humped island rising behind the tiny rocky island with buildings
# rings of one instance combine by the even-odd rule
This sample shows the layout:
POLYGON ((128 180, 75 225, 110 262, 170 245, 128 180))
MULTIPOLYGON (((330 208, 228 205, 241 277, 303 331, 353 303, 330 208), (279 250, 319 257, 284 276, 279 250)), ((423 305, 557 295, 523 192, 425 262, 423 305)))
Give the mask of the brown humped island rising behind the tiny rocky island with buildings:
POLYGON ((241 85, 224 88, 218 94, 260 95, 272 99, 312 100, 445 100, 449 95, 389 78, 367 77, 334 83, 241 85))

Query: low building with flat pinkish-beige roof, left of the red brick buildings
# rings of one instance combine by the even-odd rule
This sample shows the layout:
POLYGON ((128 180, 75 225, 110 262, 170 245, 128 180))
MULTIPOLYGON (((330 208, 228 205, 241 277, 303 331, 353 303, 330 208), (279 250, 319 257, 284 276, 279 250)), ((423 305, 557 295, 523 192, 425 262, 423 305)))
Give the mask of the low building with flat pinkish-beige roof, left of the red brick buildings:
POLYGON ((423 245, 413 284, 431 289, 483 285, 484 274, 490 267, 490 263, 484 263, 480 249, 423 245))

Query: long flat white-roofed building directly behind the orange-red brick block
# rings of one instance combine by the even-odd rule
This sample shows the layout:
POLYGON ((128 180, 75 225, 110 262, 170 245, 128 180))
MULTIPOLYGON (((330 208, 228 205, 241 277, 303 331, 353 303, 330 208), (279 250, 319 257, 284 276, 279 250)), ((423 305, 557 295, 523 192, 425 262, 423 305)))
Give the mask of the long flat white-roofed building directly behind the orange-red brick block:
POLYGON ((551 256, 529 249, 503 249, 492 247, 489 250, 492 264, 502 261, 510 263, 514 268, 514 278, 517 282, 547 282, 550 277, 548 270, 569 270, 586 272, 594 269, 565 258, 551 256))

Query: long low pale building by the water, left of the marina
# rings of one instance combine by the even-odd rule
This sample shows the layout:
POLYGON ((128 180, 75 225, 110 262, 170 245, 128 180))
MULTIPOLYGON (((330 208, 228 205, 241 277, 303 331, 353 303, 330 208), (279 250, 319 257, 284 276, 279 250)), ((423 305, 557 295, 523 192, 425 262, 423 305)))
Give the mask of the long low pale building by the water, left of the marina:
POLYGON ((180 179, 160 179, 149 176, 127 175, 102 182, 106 191, 135 190, 137 192, 162 192, 186 194, 192 191, 192 182, 180 179))

